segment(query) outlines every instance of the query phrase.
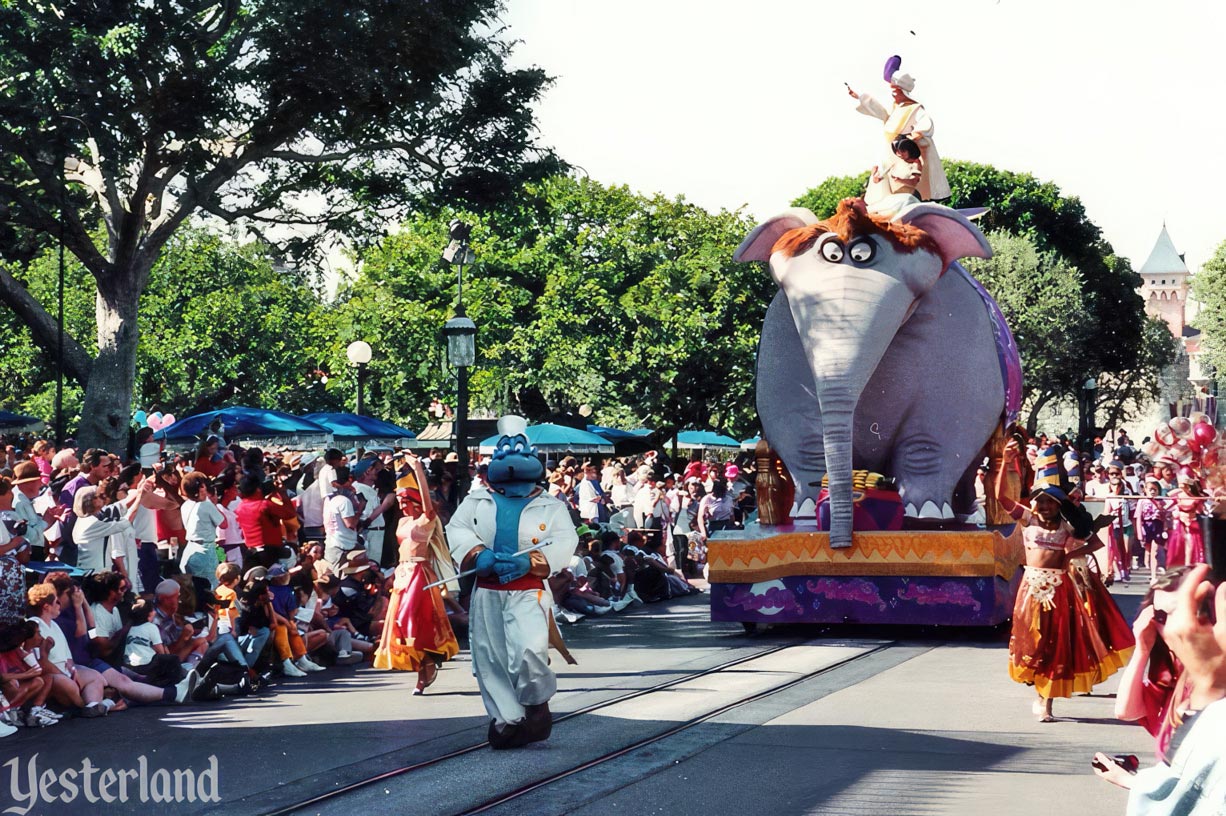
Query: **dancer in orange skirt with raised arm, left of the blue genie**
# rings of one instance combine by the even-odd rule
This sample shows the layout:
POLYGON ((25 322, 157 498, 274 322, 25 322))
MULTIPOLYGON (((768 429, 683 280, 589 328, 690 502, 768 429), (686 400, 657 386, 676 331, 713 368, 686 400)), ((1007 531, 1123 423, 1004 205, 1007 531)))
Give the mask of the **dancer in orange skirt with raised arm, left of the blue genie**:
POLYGON ((417 671, 413 693, 421 695, 434 682, 439 665, 460 651, 443 602, 451 584, 424 587, 441 578, 454 578, 456 571, 443 522, 430 502, 421 459, 408 458, 408 467, 396 482, 396 497, 403 513, 396 526, 400 564, 374 665, 376 669, 417 671))

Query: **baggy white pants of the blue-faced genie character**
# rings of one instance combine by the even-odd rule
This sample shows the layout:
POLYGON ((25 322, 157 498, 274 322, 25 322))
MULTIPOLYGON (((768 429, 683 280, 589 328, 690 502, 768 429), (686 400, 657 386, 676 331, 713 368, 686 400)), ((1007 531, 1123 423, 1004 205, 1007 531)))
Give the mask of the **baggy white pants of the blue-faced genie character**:
POLYGON ((549 668, 548 589, 477 587, 468 608, 472 673, 485 711, 499 727, 524 719, 525 706, 558 691, 549 668))

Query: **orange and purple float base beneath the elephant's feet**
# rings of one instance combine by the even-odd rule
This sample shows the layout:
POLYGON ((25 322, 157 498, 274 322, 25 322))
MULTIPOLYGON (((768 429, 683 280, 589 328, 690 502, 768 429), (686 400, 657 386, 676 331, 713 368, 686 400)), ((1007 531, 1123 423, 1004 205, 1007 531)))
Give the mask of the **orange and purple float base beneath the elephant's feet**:
POLYGON ((1018 527, 857 532, 832 549, 817 524, 717 533, 711 620, 996 626, 1021 577, 1018 527))

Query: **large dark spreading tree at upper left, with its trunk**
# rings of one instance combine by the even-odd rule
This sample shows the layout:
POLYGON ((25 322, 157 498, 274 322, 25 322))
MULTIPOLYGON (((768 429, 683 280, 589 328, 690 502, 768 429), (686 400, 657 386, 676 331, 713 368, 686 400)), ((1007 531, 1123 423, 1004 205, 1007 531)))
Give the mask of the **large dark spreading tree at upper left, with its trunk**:
MULTIPOLYGON (((508 67, 499 11, 495 0, 0 4, 11 227, 0 254, 61 240, 97 288, 97 353, 72 337, 64 355, 85 386, 82 441, 124 437, 137 304, 194 214, 300 227, 283 244, 303 254, 397 207, 487 205, 557 169, 533 142, 547 78, 508 67)), ((54 348, 45 301, 9 272, 0 300, 54 348)))

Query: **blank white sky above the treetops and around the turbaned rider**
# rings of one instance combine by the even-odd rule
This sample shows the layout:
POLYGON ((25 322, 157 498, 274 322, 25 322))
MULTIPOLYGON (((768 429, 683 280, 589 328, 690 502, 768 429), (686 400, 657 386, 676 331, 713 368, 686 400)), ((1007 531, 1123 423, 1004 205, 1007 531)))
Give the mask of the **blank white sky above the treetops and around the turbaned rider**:
POLYGON ((900 54, 943 157, 1054 181, 1135 268, 1163 219, 1193 272, 1226 240, 1194 176, 1226 142, 1219 0, 508 0, 505 22, 557 77, 543 141, 604 184, 774 214, 877 161, 842 83, 888 100, 900 54))

